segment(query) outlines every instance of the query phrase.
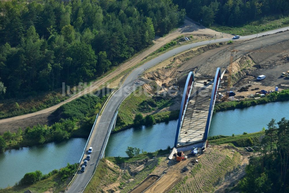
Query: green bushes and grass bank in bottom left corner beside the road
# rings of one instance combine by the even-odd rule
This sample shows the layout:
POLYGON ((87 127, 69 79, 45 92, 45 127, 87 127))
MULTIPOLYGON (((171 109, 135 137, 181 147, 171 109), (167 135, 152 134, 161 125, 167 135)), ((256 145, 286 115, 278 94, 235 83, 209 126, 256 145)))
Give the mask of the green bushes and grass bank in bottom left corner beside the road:
POLYGON ((13 187, 0 189, 0 193, 23 193, 26 190, 32 192, 62 192, 65 190, 65 187, 77 168, 77 163, 72 165, 67 163, 66 167, 63 167, 60 170, 53 170, 48 174, 42 174, 39 170, 29 172, 13 187))

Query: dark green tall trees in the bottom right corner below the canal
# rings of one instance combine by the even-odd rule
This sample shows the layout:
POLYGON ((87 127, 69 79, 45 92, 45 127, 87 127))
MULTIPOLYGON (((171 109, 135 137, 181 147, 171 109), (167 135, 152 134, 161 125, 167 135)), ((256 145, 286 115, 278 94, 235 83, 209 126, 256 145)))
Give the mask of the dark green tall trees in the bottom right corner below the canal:
POLYGON ((250 157, 246 176, 239 182, 244 192, 289 192, 289 120, 272 119, 265 137, 250 157), (278 127, 276 126, 278 125, 278 127))

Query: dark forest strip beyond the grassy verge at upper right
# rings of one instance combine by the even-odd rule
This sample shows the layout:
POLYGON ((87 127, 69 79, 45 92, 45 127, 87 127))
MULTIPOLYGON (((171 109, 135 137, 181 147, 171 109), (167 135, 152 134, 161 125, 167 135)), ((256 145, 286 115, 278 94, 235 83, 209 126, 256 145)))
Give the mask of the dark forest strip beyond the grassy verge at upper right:
POLYGON ((205 26, 213 23, 240 26, 269 15, 289 14, 288 0, 173 0, 173 2, 180 8, 185 8, 189 17, 205 26))

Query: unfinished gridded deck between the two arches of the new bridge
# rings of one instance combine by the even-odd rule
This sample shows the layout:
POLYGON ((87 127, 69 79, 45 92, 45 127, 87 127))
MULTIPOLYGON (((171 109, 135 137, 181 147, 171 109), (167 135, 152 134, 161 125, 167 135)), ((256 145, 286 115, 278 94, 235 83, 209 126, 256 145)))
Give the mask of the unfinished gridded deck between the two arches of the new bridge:
POLYGON ((204 85, 195 81, 181 126, 178 143, 185 145, 201 141, 209 114, 213 82, 204 85))

